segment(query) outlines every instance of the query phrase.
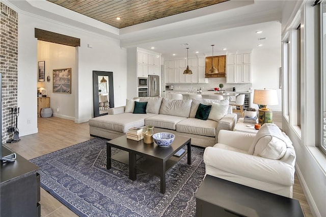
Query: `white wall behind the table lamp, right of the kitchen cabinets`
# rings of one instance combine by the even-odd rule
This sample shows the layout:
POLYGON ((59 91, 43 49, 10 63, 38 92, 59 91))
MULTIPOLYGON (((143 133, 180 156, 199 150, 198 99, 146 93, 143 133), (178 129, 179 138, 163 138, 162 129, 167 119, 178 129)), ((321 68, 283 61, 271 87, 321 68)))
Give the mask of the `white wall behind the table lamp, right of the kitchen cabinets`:
MULTIPOLYGON (((280 33, 281 35, 281 33, 280 33)), ((281 39, 280 39, 281 40, 281 39)), ((278 105, 267 105, 273 111, 282 111, 282 90, 280 87, 280 67, 282 65, 281 43, 275 48, 258 48, 252 51, 252 83, 255 89, 276 89, 278 105)), ((253 100, 252 94, 252 100, 253 100)), ((258 108, 257 104, 252 106, 258 108)))

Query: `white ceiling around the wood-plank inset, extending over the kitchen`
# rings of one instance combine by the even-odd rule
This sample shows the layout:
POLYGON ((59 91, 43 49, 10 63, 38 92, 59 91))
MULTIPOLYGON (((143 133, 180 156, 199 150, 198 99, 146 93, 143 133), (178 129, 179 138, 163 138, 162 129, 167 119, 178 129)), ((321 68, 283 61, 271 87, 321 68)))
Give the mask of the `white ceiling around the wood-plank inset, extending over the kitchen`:
POLYGON ((2 0, 22 13, 33 13, 80 29, 120 39, 121 47, 142 47, 162 53, 165 59, 234 53, 237 50, 281 46, 283 1, 231 0, 149 22, 117 29, 45 0, 2 0), (219 7, 218 7, 219 6, 219 7), (256 34, 255 31, 263 33, 256 34), (258 38, 265 37, 265 40, 258 38), (181 44, 189 43, 189 46, 181 44), (258 44, 263 46, 257 47, 258 44), (222 48, 227 48, 222 51, 222 48), (199 51, 195 54, 195 51, 199 51), (176 56, 172 56, 175 53, 176 56))

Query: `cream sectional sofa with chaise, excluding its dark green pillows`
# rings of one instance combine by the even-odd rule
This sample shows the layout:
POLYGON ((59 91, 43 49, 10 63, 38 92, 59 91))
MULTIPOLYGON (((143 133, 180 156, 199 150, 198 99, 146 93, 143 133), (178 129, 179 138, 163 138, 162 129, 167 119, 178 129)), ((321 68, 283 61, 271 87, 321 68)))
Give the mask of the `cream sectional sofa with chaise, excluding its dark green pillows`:
POLYGON ((115 139, 131 127, 153 125, 154 132, 184 135, 192 138, 192 145, 207 147, 218 142, 221 129, 233 130, 237 119, 236 114, 232 114, 228 100, 172 100, 161 97, 140 97, 133 100, 147 102, 146 114, 133 114, 130 106, 134 101, 127 99, 126 106, 110 108, 108 115, 90 119, 90 134, 115 139), (212 105, 207 120, 195 118, 200 103, 212 105))

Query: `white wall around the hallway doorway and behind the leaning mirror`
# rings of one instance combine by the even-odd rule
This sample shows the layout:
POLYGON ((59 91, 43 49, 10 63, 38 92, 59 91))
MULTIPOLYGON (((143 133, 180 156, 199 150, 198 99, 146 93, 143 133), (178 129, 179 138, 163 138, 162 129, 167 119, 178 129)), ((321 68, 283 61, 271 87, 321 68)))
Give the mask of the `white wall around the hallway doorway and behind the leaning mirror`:
MULTIPOLYGON (((43 29, 80 38, 76 49, 76 76, 72 77, 75 91, 76 123, 88 121, 93 112, 93 70, 113 71, 115 106, 126 99, 126 50, 118 40, 96 35, 38 16, 18 13, 18 106, 20 135, 36 133, 37 129, 37 39, 34 29, 43 29), (88 44, 93 48, 88 48, 88 44), (30 124, 28 124, 30 120, 30 124)), ((70 113, 69 113, 70 114, 70 113)), ((69 115, 68 115, 69 116, 69 115)))

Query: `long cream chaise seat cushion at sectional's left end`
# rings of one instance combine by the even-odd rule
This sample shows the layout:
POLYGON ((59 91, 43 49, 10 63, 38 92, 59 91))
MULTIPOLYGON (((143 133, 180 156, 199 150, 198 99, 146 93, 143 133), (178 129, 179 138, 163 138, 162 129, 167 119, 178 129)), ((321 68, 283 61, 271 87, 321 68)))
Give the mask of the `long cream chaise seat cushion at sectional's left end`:
POLYGON ((127 132, 131 127, 142 127, 145 125, 145 118, 155 114, 132 114, 122 113, 116 115, 103 115, 89 120, 90 126, 127 132))

